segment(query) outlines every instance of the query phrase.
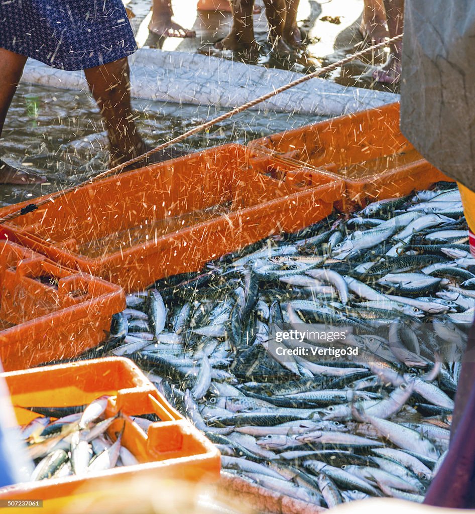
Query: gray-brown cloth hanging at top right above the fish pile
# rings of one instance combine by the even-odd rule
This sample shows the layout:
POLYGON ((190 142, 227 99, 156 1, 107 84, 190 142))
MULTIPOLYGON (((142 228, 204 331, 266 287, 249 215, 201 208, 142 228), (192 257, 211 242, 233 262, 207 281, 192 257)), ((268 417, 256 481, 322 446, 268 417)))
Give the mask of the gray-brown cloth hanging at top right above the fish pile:
POLYGON ((406 0, 401 130, 475 190, 475 1, 406 0))

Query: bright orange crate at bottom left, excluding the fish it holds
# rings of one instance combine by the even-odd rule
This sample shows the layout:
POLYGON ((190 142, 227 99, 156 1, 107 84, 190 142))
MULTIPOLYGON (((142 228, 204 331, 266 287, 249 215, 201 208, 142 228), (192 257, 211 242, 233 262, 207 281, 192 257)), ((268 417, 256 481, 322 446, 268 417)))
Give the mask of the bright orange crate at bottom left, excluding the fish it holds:
MULTIPOLYGON (((46 512, 89 488, 107 489, 122 480, 173 478, 214 482, 220 476, 220 452, 188 420, 176 412, 129 359, 115 357, 45 366, 2 375, 10 390, 19 425, 35 414, 23 407, 71 407, 85 405, 102 395, 109 398, 106 416, 119 411, 125 419, 122 444, 140 464, 117 467, 86 476, 28 482, 0 488, 0 499, 44 501, 46 512), (129 416, 154 413, 161 421, 145 434, 129 416), (65 498, 69 497, 69 498, 65 498), (64 499, 58 501, 58 499, 64 499)), ((109 428, 122 428, 117 419, 109 428)), ((151 491, 151 494, 153 492, 151 491)))

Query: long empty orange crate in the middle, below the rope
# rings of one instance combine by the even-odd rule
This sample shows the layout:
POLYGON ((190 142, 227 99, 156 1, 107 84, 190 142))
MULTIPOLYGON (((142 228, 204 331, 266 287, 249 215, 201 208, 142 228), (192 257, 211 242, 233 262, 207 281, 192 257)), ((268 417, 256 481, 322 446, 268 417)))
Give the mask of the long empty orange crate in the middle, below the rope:
POLYGON ((218 146, 77 189, 4 227, 62 265, 136 290, 317 222, 344 191, 318 171, 311 187, 273 178, 261 161, 251 166, 242 145, 218 146))

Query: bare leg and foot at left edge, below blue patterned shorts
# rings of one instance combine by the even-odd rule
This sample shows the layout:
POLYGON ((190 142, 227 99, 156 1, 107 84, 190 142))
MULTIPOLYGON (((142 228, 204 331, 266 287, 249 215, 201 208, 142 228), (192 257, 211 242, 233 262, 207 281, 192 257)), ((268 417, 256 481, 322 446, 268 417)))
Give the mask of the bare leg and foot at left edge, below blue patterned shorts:
MULTIPOLYGON (((0 136, 16 86, 22 77, 26 60, 25 56, 0 48, 0 136)), ((46 178, 12 168, 0 159, 0 183, 31 184, 41 182, 46 182, 46 178)))

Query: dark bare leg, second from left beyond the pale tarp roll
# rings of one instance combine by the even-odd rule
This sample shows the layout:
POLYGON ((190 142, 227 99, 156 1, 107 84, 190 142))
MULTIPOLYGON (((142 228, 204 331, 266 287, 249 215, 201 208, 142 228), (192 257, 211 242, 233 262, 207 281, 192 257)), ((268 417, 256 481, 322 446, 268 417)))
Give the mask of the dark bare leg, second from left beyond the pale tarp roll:
POLYGON ((231 0, 232 28, 222 41, 214 44, 220 50, 257 51, 254 39, 252 8, 254 0, 231 0))

